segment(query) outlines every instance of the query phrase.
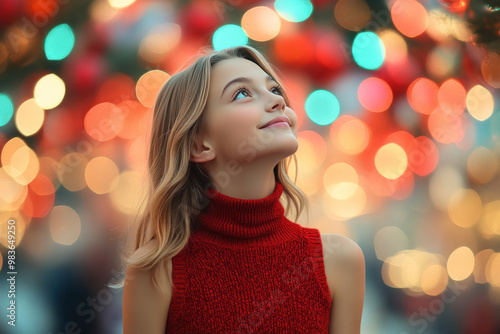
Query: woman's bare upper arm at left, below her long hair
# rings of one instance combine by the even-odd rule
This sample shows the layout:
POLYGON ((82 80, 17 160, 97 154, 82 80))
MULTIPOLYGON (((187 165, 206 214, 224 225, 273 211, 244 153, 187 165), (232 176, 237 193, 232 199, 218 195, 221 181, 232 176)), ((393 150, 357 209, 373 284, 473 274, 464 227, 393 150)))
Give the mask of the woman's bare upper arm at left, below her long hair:
MULTIPOLYGON (((148 247, 145 245, 144 247, 148 247)), ((141 256, 139 248, 132 256, 141 256)), ((164 268, 171 271, 171 259, 164 268)), ((153 271, 128 266, 123 287, 123 333, 165 333, 168 310, 172 299, 172 286, 166 275, 160 280, 165 290, 153 284, 153 271)))

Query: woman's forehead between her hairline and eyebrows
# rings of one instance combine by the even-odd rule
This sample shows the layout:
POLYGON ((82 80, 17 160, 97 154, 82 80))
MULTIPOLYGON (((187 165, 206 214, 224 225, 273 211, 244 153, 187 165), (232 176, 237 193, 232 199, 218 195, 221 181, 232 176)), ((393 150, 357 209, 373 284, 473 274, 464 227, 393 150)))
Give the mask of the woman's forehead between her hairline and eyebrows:
POLYGON ((231 58, 213 66, 210 84, 213 89, 222 90, 226 83, 238 77, 265 79, 267 76, 268 74, 254 62, 244 58, 231 58))

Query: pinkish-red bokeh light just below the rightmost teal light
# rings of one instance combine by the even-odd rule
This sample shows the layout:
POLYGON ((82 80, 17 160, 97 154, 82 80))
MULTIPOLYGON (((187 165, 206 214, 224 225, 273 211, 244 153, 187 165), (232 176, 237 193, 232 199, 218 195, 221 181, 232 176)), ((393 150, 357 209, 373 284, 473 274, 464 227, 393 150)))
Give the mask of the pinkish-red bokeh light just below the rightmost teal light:
POLYGON ((384 80, 371 77, 364 80, 358 88, 358 98, 361 105, 373 112, 382 112, 392 104, 391 87, 384 80))

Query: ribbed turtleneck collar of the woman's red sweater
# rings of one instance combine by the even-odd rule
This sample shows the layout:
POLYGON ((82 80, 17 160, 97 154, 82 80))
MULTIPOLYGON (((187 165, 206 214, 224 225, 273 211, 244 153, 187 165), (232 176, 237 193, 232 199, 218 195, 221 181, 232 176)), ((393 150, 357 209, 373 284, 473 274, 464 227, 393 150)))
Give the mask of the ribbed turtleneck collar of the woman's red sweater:
POLYGON ((207 190, 209 204, 198 219, 205 239, 218 244, 263 244, 289 239, 298 224, 284 216, 280 202, 283 186, 276 181, 274 191, 260 199, 240 199, 207 190), (295 226, 290 226, 293 224, 295 226))

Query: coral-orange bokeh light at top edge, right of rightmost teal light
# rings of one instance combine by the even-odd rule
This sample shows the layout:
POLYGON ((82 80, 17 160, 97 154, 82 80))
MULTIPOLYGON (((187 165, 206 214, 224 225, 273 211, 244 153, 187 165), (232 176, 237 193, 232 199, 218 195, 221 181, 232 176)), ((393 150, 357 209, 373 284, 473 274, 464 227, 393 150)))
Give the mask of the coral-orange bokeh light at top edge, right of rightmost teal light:
POLYGON ((415 0, 396 0, 391 7, 391 18, 405 36, 416 37, 427 28, 427 10, 415 0))

